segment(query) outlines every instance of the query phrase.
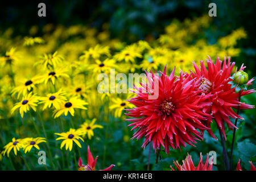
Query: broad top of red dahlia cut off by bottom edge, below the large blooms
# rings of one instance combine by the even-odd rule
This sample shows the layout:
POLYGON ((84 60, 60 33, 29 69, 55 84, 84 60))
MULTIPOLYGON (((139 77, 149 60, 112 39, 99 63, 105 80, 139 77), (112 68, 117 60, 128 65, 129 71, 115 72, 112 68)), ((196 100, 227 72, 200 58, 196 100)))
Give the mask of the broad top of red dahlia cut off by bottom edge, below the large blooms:
MULTIPOLYGON (((213 159, 210 162, 210 164, 208 163, 209 163, 208 154, 207 154, 207 159, 205 160, 205 163, 203 163, 203 156, 202 154, 200 154, 200 161, 197 167, 195 167, 193 160, 191 158, 191 155, 189 154, 187 158, 185 158, 185 160, 182 161, 182 165, 180 165, 179 162, 174 161, 174 164, 179 171, 212 171, 213 159)), ((172 168, 172 166, 170 166, 170 168, 172 169, 172 171, 175 171, 175 169, 172 168)))

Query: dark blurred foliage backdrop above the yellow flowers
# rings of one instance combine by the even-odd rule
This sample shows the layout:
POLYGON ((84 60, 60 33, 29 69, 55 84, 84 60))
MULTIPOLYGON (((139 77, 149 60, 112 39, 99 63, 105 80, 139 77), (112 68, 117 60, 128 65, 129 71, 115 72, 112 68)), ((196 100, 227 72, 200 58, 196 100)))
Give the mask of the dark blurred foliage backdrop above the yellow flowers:
MULTIPOLYGON (((239 42, 242 48, 240 58, 243 63, 255 68, 256 1, 218 0, 218 1, 163 1, 163 0, 60 0, 60 1, 7 1, 1 2, 0 29, 14 27, 14 35, 28 35, 31 26, 39 30, 47 23, 71 26, 86 24, 101 30, 102 24, 109 23, 110 36, 131 43, 148 36, 158 38, 172 19, 183 20, 208 14, 209 3, 217 5, 217 17, 213 18, 214 31, 209 44, 220 36, 230 34, 236 28, 243 27, 247 39, 239 42), (46 17, 38 16, 38 4, 46 3, 46 17)), ((40 36, 40 33, 36 36, 40 36)), ((239 57, 238 57, 239 59, 239 57)))

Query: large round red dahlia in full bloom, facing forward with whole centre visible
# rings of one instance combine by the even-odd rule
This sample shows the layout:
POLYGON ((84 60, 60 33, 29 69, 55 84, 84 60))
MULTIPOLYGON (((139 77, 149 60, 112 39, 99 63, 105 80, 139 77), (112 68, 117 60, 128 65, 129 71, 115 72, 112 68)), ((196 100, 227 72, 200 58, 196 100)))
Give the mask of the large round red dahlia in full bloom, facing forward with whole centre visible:
POLYGON ((148 85, 135 86, 137 97, 129 100, 136 107, 127 109, 126 114, 134 118, 126 120, 133 122, 129 125, 134 126, 131 130, 138 128, 133 139, 146 138, 142 147, 152 141, 155 150, 162 145, 168 153, 169 146, 175 149, 185 147, 185 143, 194 146, 195 140, 203 139, 202 132, 196 129, 208 129, 201 121, 207 121, 210 115, 201 110, 209 103, 200 102, 194 80, 183 75, 176 77, 174 72, 175 69, 167 76, 164 68, 160 77, 146 73, 148 85), (157 94, 158 98, 150 98, 157 94))

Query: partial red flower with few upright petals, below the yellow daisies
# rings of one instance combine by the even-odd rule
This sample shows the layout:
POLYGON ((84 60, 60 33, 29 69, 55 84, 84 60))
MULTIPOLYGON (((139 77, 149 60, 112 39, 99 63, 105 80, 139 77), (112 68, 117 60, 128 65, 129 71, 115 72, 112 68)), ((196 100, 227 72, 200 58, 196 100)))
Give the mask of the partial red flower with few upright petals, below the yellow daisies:
MULTIPOLYGON (((92 153, 90 152, 90 147, 88 146, 87 148, 88 152, 88 161, 87 165, 82 164, 82 159, 79 158, 79 171, 96 171, 96 161, 98 159, 98 156, 96 156, 95 160, 93 159, 92 153)), ((100 170, 100 171, 111 171, 111 169, 114 167, 114 164, 111 164, 109 167, 106 169, 100 170)))

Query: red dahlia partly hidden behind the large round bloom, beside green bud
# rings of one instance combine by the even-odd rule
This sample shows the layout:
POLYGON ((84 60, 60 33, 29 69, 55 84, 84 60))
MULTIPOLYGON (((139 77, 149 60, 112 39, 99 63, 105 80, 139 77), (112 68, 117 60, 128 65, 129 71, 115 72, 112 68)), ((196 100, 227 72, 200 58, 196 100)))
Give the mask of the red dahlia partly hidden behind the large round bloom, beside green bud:
MULTIPOLYGON (((240 109, 253 109, 254 106, 238 101, 239 95, 235 92, 236 88, 231 89, 231 85, 228 84, 229 81, 232 81, 229 77, 231 76, 231 72, 235 64, 230 63, 230 57, 228 57, 228 63, 226 62, 226 58, 224 59, 223 65, 219 57, 217 57, 215 64, 209 57, 209 60, 207 60, 208 69, 205 67, 203 61, 200 61, 200 63, 201 69, 197 67, 196 63, 193 63, 195 73, 192 72, 191 79, 196 78, 196 80, 201 81, 201 85, 199 87, 199 90, 201 90, 200 95, 205 97, 202 98, 205 102, 212 103, 211 105, 204 107, 203 111, 204 113, 213 115, 218 128, 226 139, 224 122, 230 129, 233 129, 233 127, 237 129, 237 127, 230 121, 229 117, 243 119, 233 111, 232 107, 237 109, 240 105, 240 109)), ((240 70, 244 68, 245 67, 241 67, 240 70)), ((249 80, 247 85, 251 84, 253 80, 254 79, 249 80)), ((242 90, 241 96, 254 92, 254 89, 246 91, 242 90)), ((212 121, 206 122, 206 126, 210 128, 211 122, 212 121)), ((216 138, 213 135, 212 130, 208 130, 208 132, 213 138, 216 138)))

